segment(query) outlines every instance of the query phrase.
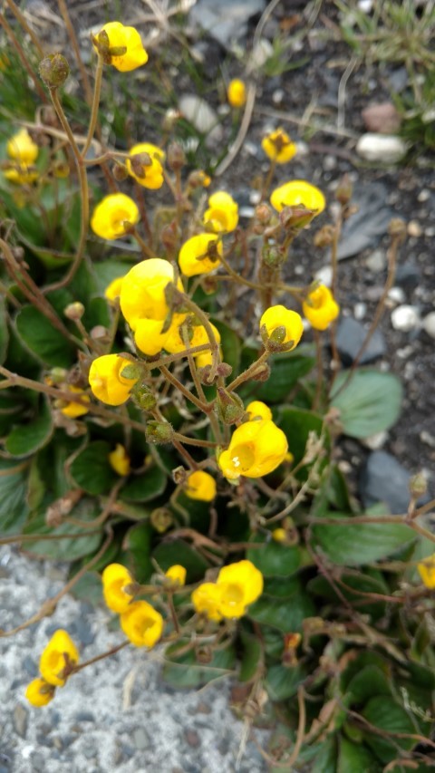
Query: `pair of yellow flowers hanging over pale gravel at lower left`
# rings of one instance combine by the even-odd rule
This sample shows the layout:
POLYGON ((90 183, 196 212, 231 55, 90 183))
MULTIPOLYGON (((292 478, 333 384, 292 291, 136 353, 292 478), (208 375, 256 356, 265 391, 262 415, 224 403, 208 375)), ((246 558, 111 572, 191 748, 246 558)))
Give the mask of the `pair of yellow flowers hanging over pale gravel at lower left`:
POLYGON ((69 633, 60 628, 43 650, 39 662, 41 677, 27 685, 25 697, 33 706, 46 706, 56 687, 63 687, 79 662, 79 652, 69 633))

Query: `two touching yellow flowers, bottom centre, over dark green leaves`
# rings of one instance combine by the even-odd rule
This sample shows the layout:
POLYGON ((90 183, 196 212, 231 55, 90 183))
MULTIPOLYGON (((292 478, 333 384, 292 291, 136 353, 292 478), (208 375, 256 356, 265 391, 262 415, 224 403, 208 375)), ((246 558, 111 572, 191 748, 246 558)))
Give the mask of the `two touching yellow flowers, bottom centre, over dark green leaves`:
POLYGON ((250 561, 224 566, 216 583, 202 583, 192 593, 192 604, 208 620, 236 619, 263 593, 263 575, 250 561))

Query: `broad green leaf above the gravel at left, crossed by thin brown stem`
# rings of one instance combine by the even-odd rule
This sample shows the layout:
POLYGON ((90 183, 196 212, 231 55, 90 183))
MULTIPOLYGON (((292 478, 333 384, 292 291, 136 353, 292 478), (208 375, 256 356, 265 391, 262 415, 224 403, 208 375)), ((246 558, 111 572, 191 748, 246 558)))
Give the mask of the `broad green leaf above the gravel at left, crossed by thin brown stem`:
MULTIPOLYGON (((46 503, 48 504, 48 503, 46 503)), ((45 520, 46 507, 34 512, 28 517, 24 526, 25 535, 50 535, 59 536, 60 539, 40 539, 34 542, 25 542, 26 553, 40 558, 52 558, 55 561, 75 561, 82 556, 89 556, 102 541, 102 531, 97 533, 92 529, 92 521, 100 514, 97 503, 92 499, 81 499, 73 508, 71 516, 84 521, 86 526, 79 524, 63 523, 61 526, 48 527, 45 520), (69 535, 69 536, 63 536, 69 535)))

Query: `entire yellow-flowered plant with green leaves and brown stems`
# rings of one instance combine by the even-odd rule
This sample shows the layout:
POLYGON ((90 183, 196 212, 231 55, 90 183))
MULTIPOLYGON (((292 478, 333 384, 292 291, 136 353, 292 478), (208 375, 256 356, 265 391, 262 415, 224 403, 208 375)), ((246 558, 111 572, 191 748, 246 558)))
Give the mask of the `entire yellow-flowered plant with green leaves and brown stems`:
MULTIPOLYGON (((2 114, 3 542, 71 562, 68 589, 102 594, 121 647, 164 648, 173 685, 238 679, 239 715, 274 730, 279 769, 426 769, 430 505, 413 478, 407 513, 363 511, 335 461, 342 434, 387 429, 401 401, 394 376, 357 367, 363 349, 349 371, 336 352, 349 180, 328 223, 277 127, 243 226, 225 179, 188 167, 168 127, 122 150, 103 140, 106 74, 130 83, 153 66, 138 30, 113 21, 92 36, 84 132, 64 92, 71 52, 32 44, 34 115, 2 114), (331 287, 289 284, 306 229, 313 251, 331 252, 331 287)), ((238 120, 246 84, 230 82, 227 99, 238 120)), ((403 233, 391 221, 366 343, 403 233)), ((58 630, 28 700, 43 707, 90 662, 58 630)))

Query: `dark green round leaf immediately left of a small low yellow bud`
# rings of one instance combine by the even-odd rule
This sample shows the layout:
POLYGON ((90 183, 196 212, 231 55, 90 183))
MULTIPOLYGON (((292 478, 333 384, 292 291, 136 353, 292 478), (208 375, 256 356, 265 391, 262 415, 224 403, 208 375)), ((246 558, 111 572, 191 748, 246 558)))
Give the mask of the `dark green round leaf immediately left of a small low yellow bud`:
POLYGON ((108 494, 117 479, 109 462, 110 452, 111 446, 105 440, 94 440, 82 449, 70 467, 74 483, 94 496, 108 494))

